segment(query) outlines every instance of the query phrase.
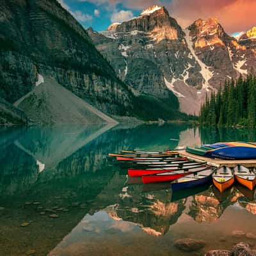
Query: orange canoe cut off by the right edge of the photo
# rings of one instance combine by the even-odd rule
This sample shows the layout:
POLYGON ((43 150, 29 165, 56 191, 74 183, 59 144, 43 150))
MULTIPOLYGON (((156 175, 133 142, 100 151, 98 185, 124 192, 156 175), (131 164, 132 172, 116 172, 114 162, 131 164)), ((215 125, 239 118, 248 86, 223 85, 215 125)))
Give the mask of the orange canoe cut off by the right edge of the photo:
POLYGON ((244 167, 243 165, 237 165, 234 168, 234 175, 241 185, 245 186, 246 188, 253 190, 256 184, 256 175, 248 168, 244 167))

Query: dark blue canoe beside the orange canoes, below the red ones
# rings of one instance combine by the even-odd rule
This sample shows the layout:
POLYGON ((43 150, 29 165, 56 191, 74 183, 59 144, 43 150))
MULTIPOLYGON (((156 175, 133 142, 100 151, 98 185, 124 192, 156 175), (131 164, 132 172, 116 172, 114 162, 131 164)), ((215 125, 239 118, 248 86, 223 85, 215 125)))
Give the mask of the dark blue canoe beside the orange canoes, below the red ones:
MULTIPOLYGON (((202 169, 202 168, 201 168, 202 169)), ((197 172, 190 173, 189 175, 185 175, 184 177, 180 177, 172 182, 172 190, 179 190, 179 189, 188 189, 193 188, 195 186, 207 184, 211 182, 212 173, 214 170, 207 166, 203 170, 198 170, 197 172)))

